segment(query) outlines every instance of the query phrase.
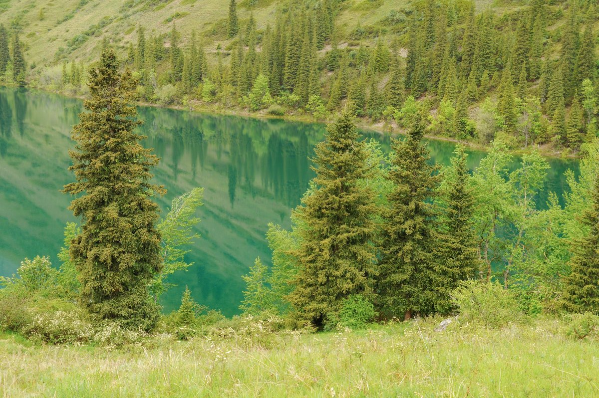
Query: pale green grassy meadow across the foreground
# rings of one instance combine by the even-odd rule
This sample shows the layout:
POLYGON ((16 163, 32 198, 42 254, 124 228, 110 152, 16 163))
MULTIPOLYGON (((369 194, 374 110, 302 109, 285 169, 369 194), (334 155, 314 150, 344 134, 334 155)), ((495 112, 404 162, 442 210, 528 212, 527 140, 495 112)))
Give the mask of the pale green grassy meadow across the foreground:
POLYGON ((502 330, 440 318, 268 338, 152 336, 105 347, 0 335, 3 397, 594 397, 599 345, 543 318, 502 330))

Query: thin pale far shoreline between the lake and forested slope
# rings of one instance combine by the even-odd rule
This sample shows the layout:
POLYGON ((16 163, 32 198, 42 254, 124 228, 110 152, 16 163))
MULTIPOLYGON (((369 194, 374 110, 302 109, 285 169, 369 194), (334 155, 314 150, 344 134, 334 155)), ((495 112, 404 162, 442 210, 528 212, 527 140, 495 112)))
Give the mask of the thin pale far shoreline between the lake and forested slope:
MULTIPOLYGON (((77 99, 81 99, 81 100, 86 99, 84 96, 81 96, 81 95, 72 95, 72 94, 64 93, 64 92, 56 92, 56 91, 52 91, 52 90, 43 89, 40 87, 16 87, 16 86, 10 86, 7 84, 0 84, 0 86, 13 87, 16 89, 40 90, 40 91, 46 92, 46 93, 62 95, 67 98, 77 98, 77 99)), ((142 107, 173 109, 173 110, 177 110, 177 111, 219 114, 219 115, 223 115, 223 116, 251 117, 253 119, 265 119, 265 120, 279 119, 279 120, 285 120, 285 121, 298 121, 301 123, 322 123, 322 124, 329 124, 332 122, 330 120, 325 120, 325 121, 317 120, 317 119, 314 119, 313 117, 302 117, 302 116, 298 116, 295 114, 285 114, 283 116, 276 116, 276 115, 268 114, 266 112, 252 113, 250 111, 246 111, 245 109, 232 110, 232 109, 226 109, 226 108, 219 109, 217 107, 194 108, 189 105, 187 105, 187 106, 185 106, 185 105, 160 105, 160 104, 152 104, 150 102, 144 102, 144 101, 137 101, 137 102, 135 102, 135 105, 139 105, 142 107)), ((395 123, 394 123, 395 126, 391 125, 391 130, 389 130, 388 128, 384 128, 384 126, 385 125, 388 126, 388 124, 383 124, 383 126, 377 126, 377 125, 373 125, 373 124, 368 124, 364 119, 356 117, 355 124, 356 124, 356 127, 358 127, 358 129, 371 130, 371 131, 380 133, 380 135, 389 135, 391 137, 394 137, 397 135, 406 135, 406 130, 398 129, 397 124, 395 124, 395 123)), ((380 124, 380 123, 377 123, 377 124, 380 124)), ((429 139, 429 140, 455 142, 456 144, 461 143, 461 144, 466 145, 469 148, 473 148, 476 150, 482 150, 482 151, 491 150, 491 147, 489 145, 484 145, 484 144, 480 144, 478 142, 472 142, 472 141, 462 141, 461 139, 447 137, 447 136, 425 134, 424 138, 429 139)), ((527 153, 531 152, 532 148, 533 147, 513 149, 513 150, 510 150, 510 153, 515 154, 515 155, 527 154, 527 153)), ((578 156, 576 154, 564 153, 562 151, 544 151, 544 150, 542 150, 542 148, 539 147, 539 145, 537 145, 537 150, 539 150, 539 153, 541 154, 541 156, 552 157, 554 159, 557 159, 557 158, 580 159, 581 158, 580 156, 578 156)))

